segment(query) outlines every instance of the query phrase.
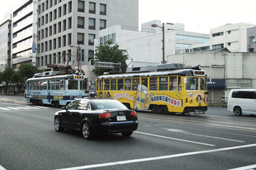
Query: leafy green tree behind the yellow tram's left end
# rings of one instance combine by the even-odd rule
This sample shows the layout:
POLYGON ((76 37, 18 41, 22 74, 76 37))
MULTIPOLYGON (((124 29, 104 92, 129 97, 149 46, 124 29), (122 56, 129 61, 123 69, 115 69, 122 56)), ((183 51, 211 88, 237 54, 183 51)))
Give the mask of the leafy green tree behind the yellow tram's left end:
MULTIPOLYGON (((125 72, 127 68, 126 60, 128 59, 128 55, 118 48, 119 45, 114 45, 113 40, 108 40, 105 45, 99 45, 97 52, 95 53, 95 61, 121 63, 121 72, 125 72)), ((119 73, 120 67, 119 65, 116 65, 115 68, 111 70, 106 68, 95 68, 92 71, 96 76, 99 76, 104 72, 119 73)))

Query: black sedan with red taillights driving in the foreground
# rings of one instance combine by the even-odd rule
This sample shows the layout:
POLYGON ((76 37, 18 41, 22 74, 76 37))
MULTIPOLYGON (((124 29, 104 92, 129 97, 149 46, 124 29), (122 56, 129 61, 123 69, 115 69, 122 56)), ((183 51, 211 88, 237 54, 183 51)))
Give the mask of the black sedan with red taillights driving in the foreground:
POLYGON ((80 130, 85 139, 93 134, 121 133, 130 136, 138 128, 135 111, 113 99, 83 98, 71 102, 54 115, 57 132, 64 128, 80 130))

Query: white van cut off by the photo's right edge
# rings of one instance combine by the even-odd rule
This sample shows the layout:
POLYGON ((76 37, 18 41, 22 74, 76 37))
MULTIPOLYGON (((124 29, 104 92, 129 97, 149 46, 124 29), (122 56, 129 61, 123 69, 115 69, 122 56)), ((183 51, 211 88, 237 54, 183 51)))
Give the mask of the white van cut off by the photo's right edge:
POLYGON ((256 89, 231 89, 227 107, 236 116, 256 114, 256 89))

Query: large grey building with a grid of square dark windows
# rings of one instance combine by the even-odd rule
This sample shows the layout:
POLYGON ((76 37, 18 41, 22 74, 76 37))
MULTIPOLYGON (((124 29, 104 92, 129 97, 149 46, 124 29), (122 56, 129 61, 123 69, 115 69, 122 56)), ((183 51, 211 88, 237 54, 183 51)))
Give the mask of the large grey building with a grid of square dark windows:
POLYGON ((38 69, 67 64, 77 68, 79 47, 79 65, 92 77, 90 61, 99 30, 115 25, 138 27, 138 0, 38 1, 37 16, 38 69))

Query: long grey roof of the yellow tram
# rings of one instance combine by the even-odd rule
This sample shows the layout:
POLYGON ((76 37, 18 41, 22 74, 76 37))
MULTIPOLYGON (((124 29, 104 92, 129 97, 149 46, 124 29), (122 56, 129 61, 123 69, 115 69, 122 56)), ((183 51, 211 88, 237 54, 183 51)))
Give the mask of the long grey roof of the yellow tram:
MULTIPOLYGON (((120 74, 108 74, 100 75, 97 79, 116 79, 116 78, 132 78, 132 77, 153 77, 163 75, 180 75, 180 76, 193 76, 194 69, 180 69, 180 70, 168 70, 161 72, 143 72, 143 73, 120 73, 120 74)), ((201 70, 204 72, 204 70, 201 70)), ((205 74, 206 76, 206 74, 205 74)))

